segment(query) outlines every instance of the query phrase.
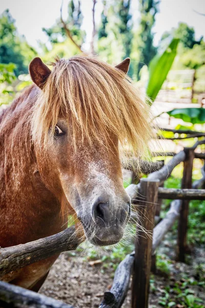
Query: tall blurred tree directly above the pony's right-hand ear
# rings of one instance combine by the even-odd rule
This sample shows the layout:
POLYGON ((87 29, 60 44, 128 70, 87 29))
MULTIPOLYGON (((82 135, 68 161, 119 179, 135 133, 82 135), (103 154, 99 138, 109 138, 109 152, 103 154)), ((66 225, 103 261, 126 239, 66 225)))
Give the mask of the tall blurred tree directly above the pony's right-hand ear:
MULTIPOLYGON (((98 29, 97 52, 104 61, 119 63, 132 51, 131 1, 104 1, 101 23, 98 29)), ((133 63, 130 72, 132 75, 133 63)))

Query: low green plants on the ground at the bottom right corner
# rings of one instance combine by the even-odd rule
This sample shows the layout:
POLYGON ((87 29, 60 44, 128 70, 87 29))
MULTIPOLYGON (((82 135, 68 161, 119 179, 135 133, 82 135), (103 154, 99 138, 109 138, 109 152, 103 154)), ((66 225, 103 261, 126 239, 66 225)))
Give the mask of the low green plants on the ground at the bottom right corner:
MULTIPOLYGON (((158 286, 152 276, 150 279, 150 290, 153 294, 159 294, 158 304, 163 307, 183 307, 183 308, 203 308, 203 296, 200 298, 200 292, 204 287, 204 264, 199 263, 194 266, 193 272, 183 271, 180 263, 175 264, 171 260, 169 254, 162 254, 157 256, 157 269, 161 272, 171 275, 172 279, 164 280, 165 283, 158 286), (174 268, 173 268, 174 267, 174 268), (177 275, 173 275, 173 269, 177 275), (196 287, 197 286, 197 287, 196 287)), ((157 279, 158 280, 158 279, 157 279)), ((201 292, 202 294, 202 292, 201 292)), ((153 306, 155 307, 155 306, 153 306)))

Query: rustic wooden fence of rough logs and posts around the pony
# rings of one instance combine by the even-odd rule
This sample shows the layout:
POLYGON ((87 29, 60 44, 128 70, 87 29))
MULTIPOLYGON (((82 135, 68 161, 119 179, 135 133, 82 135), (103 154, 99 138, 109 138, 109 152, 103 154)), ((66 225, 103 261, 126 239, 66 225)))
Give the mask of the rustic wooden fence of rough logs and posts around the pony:
MULTIPOLYGON (((189 137, 188 137, 189 138, 189 137)), ((198 189, 204 185, 205 172, 202 168, 202 179, 192 184, 192 167, 194 158, 204 159, 203 153, 195 152, 195 149, 205 144, 205 139, 197 141, 193 147, 180 151, 157 171, 152 172, 148 178, 142 178, 139 184, 131 184, 126 188, 131 199, 136 199, 138 194, 143 196, 143 202, 139 201, 137 208, 140 210, 140 220, 137 222, 137 235, 140 225, 152 237, 138 237, 135 251, 118 265, 113 285, 110 291, 105 292, 100 308, 119 308, 127 295, 130 279, 132 278, 132 308, 148 308, 150 272, 156 270, 156 248, 163 237, 173 226, 176 219, 178 224, 177 260, 184 262, 187 249, 187 225, 189 200, 205 200, 205 189, 198 189), (181 189, 164 188, 163 182, 167 180, 172 170, 183 162, 183 177, 181 189), (155 216, 159 216, 161 199, 176 199, 171 202, 169 211, 155 227, 155 216)), ((153 153, 153 156, 163 156, 164 153, 153 153)), ((167 153, 173 155, 173 153, 167 153)), ((133 165, 133 162, 131 166, 133 165)), ((156 163, 157 168, 160 165, 156 163)), ((80 242, 76 234, 75 226, 43 239, 26 244, 0 249, 0 279, 7 273, 15 271, 31 263, 43 260, 57 253, 75 249, 80 242)), ((0 305, 18 303, 32 305, 38 308, 71 308, 72 306, 44 295, 34 293, 22 287, 18 287, 0 281, 0 305)))

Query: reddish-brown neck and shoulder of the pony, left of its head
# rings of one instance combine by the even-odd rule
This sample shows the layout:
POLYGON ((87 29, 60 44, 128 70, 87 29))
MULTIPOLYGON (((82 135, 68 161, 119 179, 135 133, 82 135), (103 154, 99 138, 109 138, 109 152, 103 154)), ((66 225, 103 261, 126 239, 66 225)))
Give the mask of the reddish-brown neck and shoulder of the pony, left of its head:
POLYGON ((66 227, 60 203, 36 172, 29 119, 37 91, 35 86, 29 87, 0 115, 0 220, 3 222, 0 246, 3 247, 5 242, 25 243, 66 227))

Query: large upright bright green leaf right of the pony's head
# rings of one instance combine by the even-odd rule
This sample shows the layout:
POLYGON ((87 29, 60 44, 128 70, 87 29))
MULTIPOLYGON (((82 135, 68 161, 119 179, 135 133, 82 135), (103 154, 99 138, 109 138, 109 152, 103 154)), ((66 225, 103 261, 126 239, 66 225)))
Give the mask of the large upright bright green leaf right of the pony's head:
POLYGON ((155 55, 149 64, 149 81, 146 92, 152 101, 156 99, 163 82, 167 78, 167 74, 174 62, 178 42, 178 38, 173 38, 166 50, 162 54, 155 55))

